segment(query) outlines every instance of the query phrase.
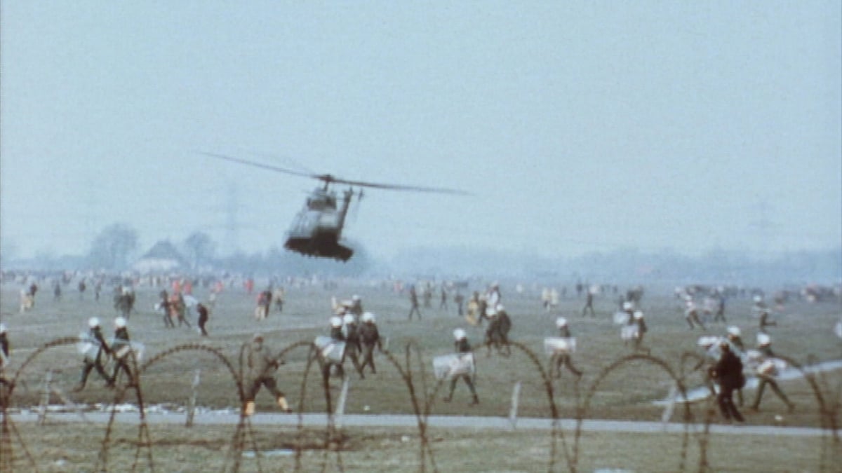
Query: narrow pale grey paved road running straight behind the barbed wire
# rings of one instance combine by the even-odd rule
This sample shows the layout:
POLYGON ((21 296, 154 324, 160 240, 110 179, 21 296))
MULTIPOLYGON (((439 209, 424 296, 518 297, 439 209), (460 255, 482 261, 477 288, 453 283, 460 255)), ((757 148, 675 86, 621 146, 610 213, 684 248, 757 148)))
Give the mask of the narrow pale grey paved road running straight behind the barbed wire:
MULTIPOLYGON (((35 413, 19 413, 11 415, 15 423, 36 422, 38 415, 35 413)), ((80 417, 75 413, 50 413, 47 416, 53 421, 76 422, 80 417)), ((86 412, 85 419, 93 423, 107 423, 108 412, 86 412)), ((137 423, 137 412, 120 412, 116 417, 120 423, 137 423)), ((172 423, 184 424, 183 413, 152 413, 147 414, 149 423, 172 423)), ((258 413, 252 417, 252 423, 256 425, 279 425, 293 426, 298 423, 297 414, 276 414, 258 413)), ((340 420, 340 419, 338 419, 340 420)), ((328 417, 324 414, 304 414, 301 421, 307 426, 327 425, 328 417)), ((197 413, 194 423, 197 425, 236 425, 239 416, 235 413, 197 413)), ((549 430, 552 428, 552 419, 524 417, 517 419, 513 424, 506 417, 470 417, 470 416, 430 416, 428 424, 432 428, 466 428, 466 429, 497 429, 497 430, 549 430)), ((341 417, 341 425, 344 427, 396 427, 415 428, 418 421, 414 416, 408 415, 377 415, 377 414, 349 414, 341 417)), ((563 429, 571 431, 576 427, 573 419, 562 419, 563 429)), ((587 420, 584 422, 584 432, 626 432, 626 433, 682 433, 685 430, 683 423, 658 423, 658 422, 637 422, 637 421, 612 421, 612 420, 587 420)), ((702 424, 690 424, 691 432, 704 430, 702 424)), ((784 435, 793 437, 818 437, 830 435, 831 431, 821 428, 802 427, 772 427, 772 426, 732 426, 711 424, 711 433, 738 434, 738 435, 784 435)), ((842 429, 837 433, 842 435, 842 429)))

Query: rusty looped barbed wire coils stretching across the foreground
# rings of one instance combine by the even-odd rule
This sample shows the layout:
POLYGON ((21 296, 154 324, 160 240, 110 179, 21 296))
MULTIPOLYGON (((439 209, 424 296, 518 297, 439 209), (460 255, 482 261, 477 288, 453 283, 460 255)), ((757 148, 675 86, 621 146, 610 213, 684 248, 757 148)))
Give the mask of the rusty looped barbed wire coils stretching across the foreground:
MULTIPOLYGON (((49 343, 41 345, 35 350, 34 353, 31 353, 29 357, 24 360, 24 363, 22 363, 19 366, 19 368, 14 373, 11 379, 0 380, 0 411, 2 411, 0 412, 2 413, 2 424, 0 424, 0 457, 2 458, 0 458, 0 467, 2 467, 3 471, 14 470, 13 440, 17 441, 17 443, 20 445, 20 449, 24 452, 24 456, 28 461, 27 470, 37 470, 37 465, 35 463, 34 456, 31 454, 31 452, 29 452, 28 445, 26 444, 23 436, 19 433, 18 429, 15 427, 8 413, 8 407, 10 406, 12 400, 14 387, 18 385, 19 381, 23 381, 21 377, 24 374, 24 371, 26 371, 29 365, 42 353, 45 353, 45 351, 51 348, 61 347, 73 343, 77 343, 77 337, 56 338, 55 340, 49 343)), ((687 361, 690 359, 695 359, 696 361, 703 361, 701 355, 694 352, 682 353, 679 358, 677 371, 672 369, 665 360, 660 359, 651 354, 632 353, 626 355, 621 359, 617 359, 616 361, 609 364, 600 371, 600 374, 597 375, 596 379, 587 388, 584 399, 580 396, 579 382, 577 380, 573 385, 574 397, 576 401, 576 424, 574 429, 573 445, 571 446, 568 445, 567 440, 564 436, 564 432, 561 428, 558 407, 555 402, 555 393, 552 385, 552 379, 549 376, 547 370, 544 368, 543 364, 541 363, 541 360, 538 358, 535 352, 533 352, 530 348, 525 347, 523 344, 514 341, 509 341, 509 344, 511 346, 514 346, 515 348, 519 348, 520 351, 524 353, 528 359, 530 359, 532 364, 535 365, 535 369, 537 370, 538 375, 540 375, 540 378, 543 381, 543 385, 546 390, 547 404, 553 421, 551 453, 548 464, 549 471, 556 470, 557 467, 556 457, 558 438, 561 439, 562 452, 567 462, 568 470, 573 472, 577 470, 578 452, 580 449, 580 438, 583 430, 583 423, 584 419, 588 417, 591 401, 593 400, 594 396, 598 393, 599 387, 601 383, 605 380, 605 378, 611 375, 616 369, 620 369, 626 364, 633 364, 636 362, 653 364, 654 366, 658 367, 663 372, 665 372, 672 380, 672 382, 674 382, 674 385, 676 386, 677 391, 679 391, 680 396, 685 400, 685 429, 684 434, 682 436, 682 449, 679 456, 679 470, 683 471, 688 468, 689 465, 687 465, 687 454, 690 444, 690 423, 693 422, 693 413, 690 411, 690 403, 687 401, 685 383, 687 377, 695 373, 695 369, 691 369, 689 372, 687 372, 686 365, 687 361)), ((107 424, 105 429, 105 435, 102 441, 102 446, 99 450, 99 455, 95 466, 96 470, 108 471, 108 454, 110 444, 112 444, 113 442, 111 434, 115 425, 117 406, 121 401, 125 399, 125 397, 128 395, 128 391, 130 390, 134 392, 136 396, 136 401, 138 403, 138 415, 140 417, 134 461, 131 465, 131 470, 137 470, 140 467, 142 460, 146 461, 147 466, 150 470, 154 470, 155 462, 152 454, 153 444, 152 439, 149 435, 149 429, 147 425, 145 401, 143 398, 142 391, 142 380, 150 367, 162 361, 163 359, 166 359, 168 356, 189 350, 210 353, 218 363, 221 363, 226 367, 228 373, 232 376, 233 383, 237 387, 237 396, 242 407, 242 402, 245 399, 245 386, 243 385, 242 364, 242 357, 245 346, 246 343, 243 343, 240 348, 239 365, 237 367, 238 369, 234 367, 231 361, 227 359, 226 355, 222 353, 220 349, 209 347, 202 343, 188 343, 173 348, 168 348, 163 352, 158 353, 155 357, 149 359, 146 363, 141 365, 138 365, 136 353, 130 352, 131 355, 129 362, 131 365, 131 373, 133 374, 132 380, 130 380, 130 383, 128 385, 120 385, 119 388, 115 390, 114 402, 110 410, 109 423, 107 424), (145 450, 146 452, 146 454, 142 458, 141 450, 145 450)), ((306 386, 310 371, 312 369, 312 364, 317 359, 317 347, 314 343, 310 341, 300 341, 292 343, 283 350, 281 350, 276 359, 280 362, 280 360, 283 360, 288 353, 298 348, 308 349, 308 355, 306 357, 306 368, 301 378, 301 401, 299 402, 298 423, 296 426, 297 437, 294 466, 295 471, 302 471, 304 470, 304 466, 302 465, 302 451, 304 449, 303 436, 305 433, 303 424, 303 412, 306 410, 306 386)), ((420 460, 419 469, 422 472, 426 471, 426 462, 427 460, 429 460, 431 468, 434 471, 438 471, 437 465, 435 464, 434 450, 430 446, 427 427, 429 421, 429 414, 430 412, 432 412, 432 409, 434 407, 434 401, 436 399, 438 391, 440 391, 440 388, 443 385, 444 380, 438 380, 438 382, 436 382, 435 385, 432 386, 432 389, 430 389, 428 383, 428 373, 424 365, 424 356, 421 349, 418 347, 418 343, 416 343, 414 340, 409 340, 406 343, 404 350, 405 364, 401 364, 395 357, 395 355, 389 352, 388 350, 384 349, 381 351, 381 353, 386 357, 386 359, 389 360, 392 366, 394 366, 395 369, 397 369, 398 374, 401 376, 408 390, 408 396, 411 402, 411 406, 413 408, 413 412, 416 416, 418 423, 418 455, 420 460), (414 364, 418 367, 417 371, 413 369, 413 361, 414 364), (420 386, 416 385, 417 381, 420 381, 420 386)), ((813 373, 812 369, 804 368, 802 364, 799 364, 795 360, 786 356, 782 356, 780 354, 778 355, 778 358, 783 359, 790 366, 797 369, 803 376, 803 378, 807 380, 807 384, 810 385, 811 390, 813 392, 813 396, 816 398, 818 404, 818 413, 821 421, 821 427, 823 428, 823 430, 830 431, 829 435, 823 435, 822 437, 822 449, 820 457, 818 459, 819 470, 834 468, 834 466, 839 465, 840 460, 842 460, 842 442, 840 442, 839 439, 838 429, 839 411, 840 406, 842 406, 842 381, 840 381, 839 385, 837 386, 831 386, 829 380, 827 379, 827 376, 824 375, 822 372, 818 372, 817 375, 813 373)), ((811 365, 814 364, 815 361, 815 357, 809 357, 807 359, 808 364, 811 365)), ((324 453, 322 454, 321 470, 327 470, 329 450, 335 447, 337 463, 336 466, 338 467, 338 470, 343 471, 344 466, 341 451, 342 443, 344 442, 344 435, 340 435, 338 433, 336 425, 334 423, 332 411, 333 401, 330 394, 329 379, 324 378, 323 376, 321 378, 323 394, 325 396, 325 403, 328 412, 328 425, 325 428, 325 449, 324 453)), ((242 409, 240 410, 240 412, 240 421, 237 424, 236 432, 232 437, 232 448, 229 449, 228 457, 226 458, 226 462, 223 465, 223 470, 232 470, 235 472, 239 470, 240 462, 242 459, 242 453, 245 450, 245 444, 250 441, 255 452, 255 466, 257 467, 258 471, 263 471, 264 469, 261 463, 262 455, 259 453, 258 440, 254 435, 253 425, 250 422, 248 416, 242 415, 242 409), (229 460, 231 460, 230 463, 229 460)), ((698 442, 700 445, 700 457, 698 464, 699 470, 709 470, 711 467, 707 461, 707 449, 709 438, 711 435, 710 426, 713 422, 713 419, 716 416, 717 412, 715 403, 709 399, 706 403, 706 410, 704 414, 704 428, 701 434, 698 435, 698 442)))

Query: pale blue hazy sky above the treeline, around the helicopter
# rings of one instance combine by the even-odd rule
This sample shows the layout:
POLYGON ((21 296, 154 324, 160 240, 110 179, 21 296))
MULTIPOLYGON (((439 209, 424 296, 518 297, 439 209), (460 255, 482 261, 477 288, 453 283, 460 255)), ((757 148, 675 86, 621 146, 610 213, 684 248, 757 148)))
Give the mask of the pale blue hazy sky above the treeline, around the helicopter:
POLYGON ((316 181, 346 237, 574 256, 842 242, 839 2, 0 3, 0 239, 282 247, 316 181), (236 210, 234 210, 236 209, 236 210), (236 233, 226 231, 231 222, 236 233))

